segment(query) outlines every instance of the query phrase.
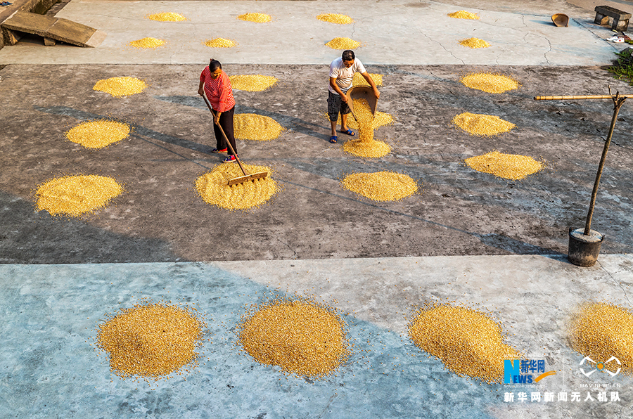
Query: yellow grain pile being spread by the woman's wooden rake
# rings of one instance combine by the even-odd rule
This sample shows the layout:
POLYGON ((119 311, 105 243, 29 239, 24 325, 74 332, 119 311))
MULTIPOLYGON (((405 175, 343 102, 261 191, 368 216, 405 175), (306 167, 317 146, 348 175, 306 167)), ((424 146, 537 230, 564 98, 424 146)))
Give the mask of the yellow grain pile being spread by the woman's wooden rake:
POLYGON ((237 163, 224 163, 196 179, 196 191, 207 204, 224 209, 248 209, 258 207, 277 191, 277 183, 271 179, 270 167, 245 165, 248 173, 268 172, 266 179, 257 179, 228 186, 230 179, 243 176, 237 163))

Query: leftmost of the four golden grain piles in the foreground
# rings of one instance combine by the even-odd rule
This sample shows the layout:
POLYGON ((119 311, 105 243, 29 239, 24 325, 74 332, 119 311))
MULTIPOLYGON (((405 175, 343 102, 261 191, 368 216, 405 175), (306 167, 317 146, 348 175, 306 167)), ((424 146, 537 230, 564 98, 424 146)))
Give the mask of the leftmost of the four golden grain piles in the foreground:
POLYGON ((121 377, 158 379, 195 365, 203 322, 192 311, 167 304, 122 309, 98 327, 97 345, 121 377))

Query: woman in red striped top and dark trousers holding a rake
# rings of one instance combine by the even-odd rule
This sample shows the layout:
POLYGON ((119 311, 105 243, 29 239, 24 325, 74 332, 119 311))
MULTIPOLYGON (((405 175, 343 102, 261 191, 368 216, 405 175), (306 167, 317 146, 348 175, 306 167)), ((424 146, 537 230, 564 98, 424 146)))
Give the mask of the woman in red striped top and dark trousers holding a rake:
MULTIPOLYGON (((233 114, 235 112, 233 88, 231 87, 229 76, 222 71, 222 64, 219 61, 211 58, 208 67, 205 67, 202 74, 200 74, 198 94, 200 96, 207 94, 211 108, 214 110, 213 131, 215 132, 216 148, 211 150, 211 153, 226 153, 228 147, 218 124, 224 130, 226 138, 229 138, 233 150, 237 153, 233 131, 233 114)), ((226 157, 222 162, 229 163, 234 161, 235 155, 229 150, 229 157, 226 157)))

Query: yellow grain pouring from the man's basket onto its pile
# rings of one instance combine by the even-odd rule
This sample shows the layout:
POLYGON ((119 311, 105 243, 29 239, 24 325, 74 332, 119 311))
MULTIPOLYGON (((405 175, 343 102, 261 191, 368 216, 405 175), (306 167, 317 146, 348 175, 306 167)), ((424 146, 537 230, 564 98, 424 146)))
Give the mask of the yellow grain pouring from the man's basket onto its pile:
MULTIPOLYGON (((358 138, 345 141, 343 150, 359 157, 383 157, 388 155, 391 147, 383 141, 373 139, 374 117, 366 99, 354 99, 354 115, 358 119, 358 138)), ((347 117, 349 121, 353 117, 347 117)))

